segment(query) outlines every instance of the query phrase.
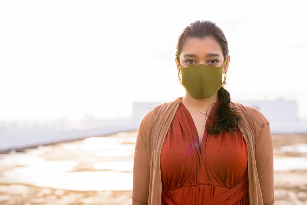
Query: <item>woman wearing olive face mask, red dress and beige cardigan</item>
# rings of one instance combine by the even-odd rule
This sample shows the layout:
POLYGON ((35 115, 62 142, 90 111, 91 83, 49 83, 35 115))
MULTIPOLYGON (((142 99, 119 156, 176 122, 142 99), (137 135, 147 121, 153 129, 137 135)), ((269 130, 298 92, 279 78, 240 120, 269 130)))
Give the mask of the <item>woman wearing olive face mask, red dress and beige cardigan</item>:
POLYGON ((256 109, 230 101, 223 85, 227 40, 210 21, 179 36, 184 97, 142 119, 135 147, 133 205, 273 205, 273 144, 256 109))

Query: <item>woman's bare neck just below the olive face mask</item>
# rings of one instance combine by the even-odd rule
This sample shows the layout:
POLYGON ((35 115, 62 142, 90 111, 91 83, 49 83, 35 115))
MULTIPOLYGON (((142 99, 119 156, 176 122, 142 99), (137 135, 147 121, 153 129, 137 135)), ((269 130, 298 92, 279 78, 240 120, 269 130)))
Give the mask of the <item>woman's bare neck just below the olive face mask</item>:
POLYGON ((211 108, 211 104, 214 104, 218 99, 217 93, 209 98, 203 99, 195 99, 192 98, 188 93, 185 93, 184 97, 182 98, 182 103, 185 107, 189 110, 199 110, 199 111, 206 111, 208 108, 211 108))

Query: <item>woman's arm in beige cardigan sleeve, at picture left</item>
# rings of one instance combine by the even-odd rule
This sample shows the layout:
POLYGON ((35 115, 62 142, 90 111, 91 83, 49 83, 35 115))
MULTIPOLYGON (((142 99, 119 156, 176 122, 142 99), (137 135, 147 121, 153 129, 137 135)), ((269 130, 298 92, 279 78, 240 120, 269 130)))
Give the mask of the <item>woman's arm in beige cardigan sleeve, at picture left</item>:
POLYGON ((148 204, 150 169, 147 153, 147 139, 150 121, 151 112, 143 117, 137 132, 133 165, 132 205, 148 204))

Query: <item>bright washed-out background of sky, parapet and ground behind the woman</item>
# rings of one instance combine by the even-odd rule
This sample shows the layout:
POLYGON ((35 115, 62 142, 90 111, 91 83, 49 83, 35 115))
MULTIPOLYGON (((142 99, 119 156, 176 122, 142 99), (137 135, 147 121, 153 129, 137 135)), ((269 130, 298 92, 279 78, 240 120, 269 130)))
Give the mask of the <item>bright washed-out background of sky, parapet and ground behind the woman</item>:
POLYGON ((226 89, 269 119, 277 204, 307 204, 307 3, 0 1, 0 204, 129 204, 136 130, 184 95, 181 31, 229 42, 226 89))

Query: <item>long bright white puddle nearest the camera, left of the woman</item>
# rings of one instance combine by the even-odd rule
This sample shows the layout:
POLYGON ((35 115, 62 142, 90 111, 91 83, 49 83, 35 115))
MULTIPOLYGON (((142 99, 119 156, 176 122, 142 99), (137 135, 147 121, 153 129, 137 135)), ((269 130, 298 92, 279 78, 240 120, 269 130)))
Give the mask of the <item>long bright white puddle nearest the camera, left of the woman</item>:
MULTIPOLYGON (((27 171, 30 170, 32 169, 27 171)), ((132 190, 132 173, 112 171, 30 173, 17 168, 4 172, 0 177, 0 183, 31 184, 76 191, 132 190)))

